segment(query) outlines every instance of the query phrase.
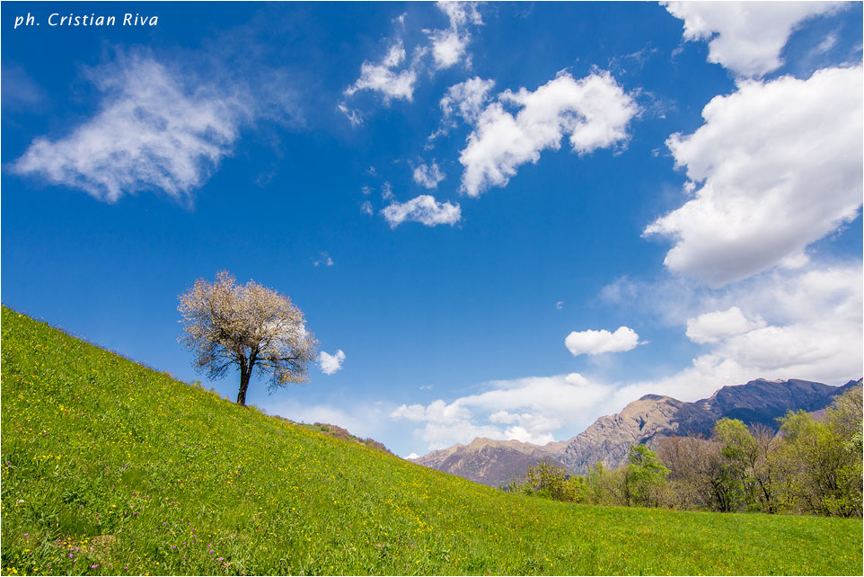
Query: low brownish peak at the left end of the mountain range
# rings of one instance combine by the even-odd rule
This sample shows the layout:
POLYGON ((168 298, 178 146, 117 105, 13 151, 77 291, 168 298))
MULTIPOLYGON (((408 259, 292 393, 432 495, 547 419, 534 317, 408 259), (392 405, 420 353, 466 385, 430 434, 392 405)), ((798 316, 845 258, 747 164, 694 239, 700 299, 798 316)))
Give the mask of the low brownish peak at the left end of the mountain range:
MULTIPOLYGON (((558 444, 563 445, 563 443, 558 444)), ((522 479, 528 467, 542 461, 564 467, 554 456, 554 450, 550 452, 539 445, 518 440, 480 438, 472 440, 468 445, 455 445, 410 460, 419 465, 492 487, 522 479)))

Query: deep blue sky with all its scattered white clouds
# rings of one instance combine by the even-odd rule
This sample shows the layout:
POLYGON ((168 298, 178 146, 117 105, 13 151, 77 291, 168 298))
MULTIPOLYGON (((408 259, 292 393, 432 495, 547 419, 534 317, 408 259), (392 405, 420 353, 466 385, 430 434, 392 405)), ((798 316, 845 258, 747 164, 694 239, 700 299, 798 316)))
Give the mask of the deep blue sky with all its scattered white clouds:
POLYGON ((191 381, 178 295, 256 280, 326 355, 248 401, 401 455, 568 439, 647 393, 839 385, 864 371, 861 20, 5 3, 3 302, 191 381), (51 25, 70 13, 116 21, 51 25))

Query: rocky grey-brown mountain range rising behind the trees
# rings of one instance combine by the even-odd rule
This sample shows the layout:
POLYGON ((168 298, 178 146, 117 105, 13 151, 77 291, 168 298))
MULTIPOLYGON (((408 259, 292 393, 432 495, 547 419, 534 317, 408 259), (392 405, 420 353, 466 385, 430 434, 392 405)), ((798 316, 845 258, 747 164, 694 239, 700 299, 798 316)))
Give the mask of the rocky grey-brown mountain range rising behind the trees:
POLYGON ((776 430, 777 418, 788 411, 823 410, 852 386, 861 386, 861 380, 830 386, 799 379, 759 378, 745 385, 724 386, 709 398, 692 403, 671 396, 644 395, 621 413, 600 417, 569 440, 541 446, 478 438, 468 445, 454 445, 410 460, 490 486, 521 479, 529 466, 542 461, 582 475, 598 461, 607 468, 621 466, 634 444, 654 448, 665 437, 709 437, 714 423, 725 417, 776 430))

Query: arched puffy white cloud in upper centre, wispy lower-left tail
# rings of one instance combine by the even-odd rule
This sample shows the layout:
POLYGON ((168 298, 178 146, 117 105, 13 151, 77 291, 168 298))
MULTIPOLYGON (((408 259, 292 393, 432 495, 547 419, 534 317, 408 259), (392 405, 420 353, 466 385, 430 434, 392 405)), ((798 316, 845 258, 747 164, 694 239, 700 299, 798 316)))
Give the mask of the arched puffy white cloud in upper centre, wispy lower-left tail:
POLYGON ((536 163, 542 150, 558 150, 569 136, 579 155, 627 138, 627 124, 639 111, 607 72, 574 80, 566 72, 534 92, 507 90, 480 112, 459 162, 462 190, 479 196, 490 186, 506 186, 516 168, 536 163), (504 104, 521 107, 516 116, 504 104))

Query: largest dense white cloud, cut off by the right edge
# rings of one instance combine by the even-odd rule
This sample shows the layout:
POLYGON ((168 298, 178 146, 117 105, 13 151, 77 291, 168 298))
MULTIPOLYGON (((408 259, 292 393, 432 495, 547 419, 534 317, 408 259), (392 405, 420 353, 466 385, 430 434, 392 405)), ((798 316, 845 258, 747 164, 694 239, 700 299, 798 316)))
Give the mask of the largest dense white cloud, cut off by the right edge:
POLYGON ((808 244, 859 214, 861 67, 808 80, 746 81, 666 141, 695 198, 645 229, 675 245, 664 263, 711 287, 807 262, 808 244))

